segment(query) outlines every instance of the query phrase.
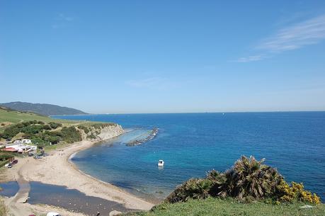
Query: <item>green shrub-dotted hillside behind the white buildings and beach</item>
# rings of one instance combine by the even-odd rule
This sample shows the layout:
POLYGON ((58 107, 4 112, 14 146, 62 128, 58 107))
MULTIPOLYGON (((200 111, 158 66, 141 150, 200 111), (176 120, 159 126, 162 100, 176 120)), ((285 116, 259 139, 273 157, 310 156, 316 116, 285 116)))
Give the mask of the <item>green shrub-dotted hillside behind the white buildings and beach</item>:
POLYGON ((103 127, 114 123, 55 120, 35 113, 0 107, 0 141, 30 139, 39 146, 96 139, 103 127))

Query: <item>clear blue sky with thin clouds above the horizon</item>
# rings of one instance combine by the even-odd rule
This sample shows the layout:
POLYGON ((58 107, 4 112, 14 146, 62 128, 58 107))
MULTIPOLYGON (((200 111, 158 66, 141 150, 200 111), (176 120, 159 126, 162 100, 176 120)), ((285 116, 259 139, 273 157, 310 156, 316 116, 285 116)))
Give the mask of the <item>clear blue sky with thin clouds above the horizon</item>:
POLYGON ((0 102, 325 110, 325 1, 0 0, 0 102))

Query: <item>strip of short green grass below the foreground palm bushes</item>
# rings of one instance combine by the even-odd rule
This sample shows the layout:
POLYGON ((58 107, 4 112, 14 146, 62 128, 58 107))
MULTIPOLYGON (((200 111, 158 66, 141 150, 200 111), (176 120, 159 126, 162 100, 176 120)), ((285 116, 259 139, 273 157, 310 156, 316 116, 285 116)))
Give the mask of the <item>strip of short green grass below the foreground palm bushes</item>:
POLYGON ((187 203, 162 204, 149 212, 130 212, 127 216, 297 216, 297 215, 325 215, 325 205, 319 204, 315 208, 300 208, 304 204, 272 205, 266 203, 236 203, 233 200, 207 198, 206 200, 189 200, 187 203))

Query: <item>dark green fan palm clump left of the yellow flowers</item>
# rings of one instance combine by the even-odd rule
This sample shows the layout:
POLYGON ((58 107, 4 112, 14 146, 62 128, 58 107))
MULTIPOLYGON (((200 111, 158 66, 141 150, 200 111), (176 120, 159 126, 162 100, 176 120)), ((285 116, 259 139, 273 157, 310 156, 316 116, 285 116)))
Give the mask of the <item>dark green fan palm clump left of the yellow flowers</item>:
POLYGON ((232 169, 220 173, 212 170, 203 179, 191 178, 178 186, 166 201, 177 203, 187 201, 189 198, 200 199, 213 197, 233 197, 237 200, 258 200, 262 198, 274 198, 277 187, 283 181, 278 171, 263 164, 254 157, 242 156, 232 169))

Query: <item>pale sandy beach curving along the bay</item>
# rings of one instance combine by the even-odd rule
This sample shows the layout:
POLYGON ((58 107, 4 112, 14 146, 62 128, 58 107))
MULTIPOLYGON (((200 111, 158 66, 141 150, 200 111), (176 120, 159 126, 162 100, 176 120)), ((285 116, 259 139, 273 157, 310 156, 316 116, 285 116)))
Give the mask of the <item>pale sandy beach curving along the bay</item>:
MULTIPOLYGON (((106 135, 106 137, 109 136, 106 135)), ((137 198, 135 195, 131 195, 116 186, 82 173, 69 161, 69 157, 72 154, 87 149, 96 142, 89 140, 76 142, 68 147, 52 151, 50 152, 50 156, 42 157, 42 159, 38 160, 32 157, 19 159, 18 164, 13 166, 12 169, 7 169, 5 176, 2 178, 6 178, 6 181, 17 181, 20 179, 23 181, 40 181, 41 183, 57 186, 67 186, 67 188, 79 190, 86 195, 120 203, 125 208, 130 209, 149 210, 152 208, 152 203, 137 198)), ((9 204, 10 208, 17 207, 14 205, 19 205, 19 208, 27 208, 29 210, 42 209, 40 205, 36 208, 35 205, 23 203, 25 198, 26 195, 21 195, 21 198, 16 197, 16 200, 13 198, 6 200, 6 203, 9 204)), ((12 212, 15 213, 14 210, 12 212)), ((82 215, 73 212, 66 212, 65 214, 72 216, 82 215)))

